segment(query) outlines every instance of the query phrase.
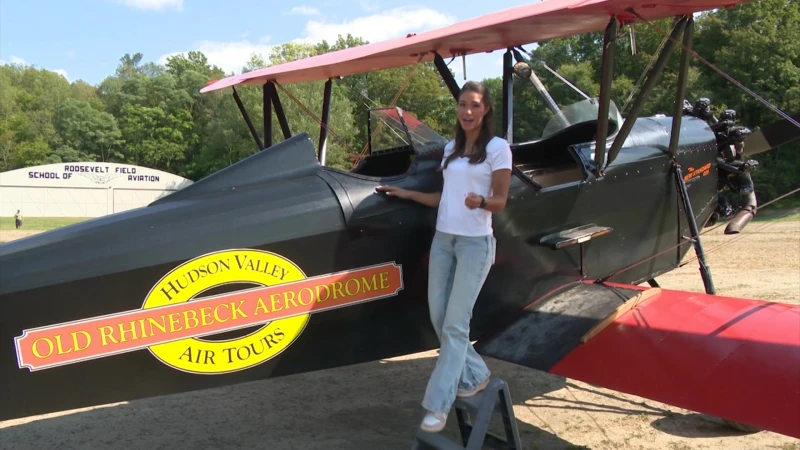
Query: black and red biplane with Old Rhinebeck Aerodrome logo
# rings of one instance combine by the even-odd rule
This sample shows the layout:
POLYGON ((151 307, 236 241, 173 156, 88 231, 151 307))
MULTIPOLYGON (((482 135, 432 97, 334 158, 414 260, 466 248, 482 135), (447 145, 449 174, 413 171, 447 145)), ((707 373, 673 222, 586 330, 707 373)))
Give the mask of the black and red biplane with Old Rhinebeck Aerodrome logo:
POLYGON ((515 167, 474 309, 476 349, 800 437, 800 308, 717 295, 700 239, 734 214, 723 189, 743 199, 729 233, 755 214, 747 155, 798 136, 785 113, 780 130, 753 133, 735 112, 684 98, 693 14, 743 1, 549 0, 209 83, 202 92, 231 88, 258 152, 146 207, 0 247, 0 419, 437 348, 426 299, 435 208, 376 187, 438 189, 449 137, 378 108, 370 123, 394 138, 370 141, 352 170, 328 167, 331 86, 433 61, 456 97, 445 58, 501 50, 500 133, 515 167), (669 17, 669 39, 623 118, 610 98, 620 30, 669 17), (599 96, 561 107, 523 46, 595 31, 599 96), (674 111, 640 117, 673 51, 674 111), (531 80, 553 112, 538 139, 513 141, 513 77, 531 80), (291 133, 283 86, 322 80, 315 144, 291 133), (263 89, 264 141, 238 96, 246 85, 263 89), (660 288, 656 278, 691 249, 706 292, 660 288))

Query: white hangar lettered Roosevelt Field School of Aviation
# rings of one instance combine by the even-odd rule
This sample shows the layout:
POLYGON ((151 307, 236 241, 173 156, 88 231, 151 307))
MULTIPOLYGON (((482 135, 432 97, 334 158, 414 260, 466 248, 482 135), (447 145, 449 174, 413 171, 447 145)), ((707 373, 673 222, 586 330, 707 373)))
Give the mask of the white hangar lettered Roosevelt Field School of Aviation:
POLYGON ((146 206, 191 180, 128 164, 45 164, 0 173, 0 216, 99 217, 146 206))

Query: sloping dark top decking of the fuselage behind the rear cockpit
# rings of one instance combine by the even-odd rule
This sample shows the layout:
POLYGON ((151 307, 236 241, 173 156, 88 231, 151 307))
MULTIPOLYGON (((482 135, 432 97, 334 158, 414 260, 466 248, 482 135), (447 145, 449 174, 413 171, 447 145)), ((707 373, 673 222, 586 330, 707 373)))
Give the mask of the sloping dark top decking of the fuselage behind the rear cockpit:
POLYGON ((147 207, 10 242, 0 247, 0 296, 341 229, 320 169, 301 134, 147 207))

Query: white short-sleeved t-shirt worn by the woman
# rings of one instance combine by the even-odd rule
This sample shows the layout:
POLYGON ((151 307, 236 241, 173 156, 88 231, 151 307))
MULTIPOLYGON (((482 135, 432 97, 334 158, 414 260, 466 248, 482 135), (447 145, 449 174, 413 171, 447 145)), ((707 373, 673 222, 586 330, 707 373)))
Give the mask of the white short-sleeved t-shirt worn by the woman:
MULTIPOLYGON (((444 147, 441 166, 453 153, 455 141, 444 147)), ((464 204, 467 194, 474 192, 484 197, 492 195, 492 172, 511 169, 511 148, 508 141, 494 137, 486 146, 486 159, 470 164, 469 157, 456 158, 444 169, 444 187, 436 229, 461 236, 486 236, 493 233, 492 212, 483 208, 469 209, 464 204)))

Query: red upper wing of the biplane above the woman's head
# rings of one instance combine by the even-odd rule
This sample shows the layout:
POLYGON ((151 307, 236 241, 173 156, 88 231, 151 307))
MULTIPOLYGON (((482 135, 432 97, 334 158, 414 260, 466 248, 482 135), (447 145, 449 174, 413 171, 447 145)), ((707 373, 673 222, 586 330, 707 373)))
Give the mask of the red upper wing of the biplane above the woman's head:
POLYGON ((453 25, 382 42, 325 53, 311 58, 223 78, 200 90, 209 92, 237 84, 267 81, 299 83, 325 80, 413 64, 420 54, 431 61, 442 57, 491 52, 531 42, 602 30, 612 14, 635 20, 634 9, 645 20, 730 7, 750 0, 545 0, 485 14, 453 25))

